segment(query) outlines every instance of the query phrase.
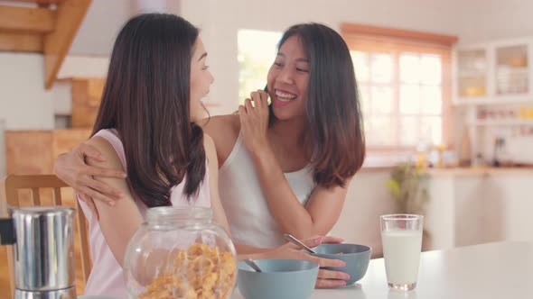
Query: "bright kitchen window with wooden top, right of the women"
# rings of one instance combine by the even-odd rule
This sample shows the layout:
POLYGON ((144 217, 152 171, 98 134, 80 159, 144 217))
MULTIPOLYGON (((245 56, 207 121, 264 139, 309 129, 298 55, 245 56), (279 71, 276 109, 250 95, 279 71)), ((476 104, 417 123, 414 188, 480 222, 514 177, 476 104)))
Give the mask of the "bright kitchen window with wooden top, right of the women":
POLYGON ((451 146, 451 46, 456 38, 342 24, 359 86, 369 153, 451 146))

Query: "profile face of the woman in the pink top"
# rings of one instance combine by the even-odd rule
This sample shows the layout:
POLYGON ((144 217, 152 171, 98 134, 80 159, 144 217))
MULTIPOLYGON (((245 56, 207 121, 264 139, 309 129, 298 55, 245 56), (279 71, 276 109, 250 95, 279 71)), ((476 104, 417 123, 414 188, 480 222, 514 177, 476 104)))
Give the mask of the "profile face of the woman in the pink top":
POLYGON ((194 43, 191 59, 191 121, 198 122, 205 116, 201 98, 209 94, 214 78, 206 65, 207 52, 199 37, 194 43))

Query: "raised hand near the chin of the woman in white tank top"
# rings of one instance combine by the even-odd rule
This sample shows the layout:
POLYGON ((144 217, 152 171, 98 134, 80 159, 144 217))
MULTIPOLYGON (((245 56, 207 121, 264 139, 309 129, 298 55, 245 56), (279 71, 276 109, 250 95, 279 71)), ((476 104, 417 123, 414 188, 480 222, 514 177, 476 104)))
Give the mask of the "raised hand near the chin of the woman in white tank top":
POLYGON ((268 146, 268 94, 263 90, 252 92, 244 105, 238 106, 238 117, 248 150, 254 154, 265 149, 268 146))

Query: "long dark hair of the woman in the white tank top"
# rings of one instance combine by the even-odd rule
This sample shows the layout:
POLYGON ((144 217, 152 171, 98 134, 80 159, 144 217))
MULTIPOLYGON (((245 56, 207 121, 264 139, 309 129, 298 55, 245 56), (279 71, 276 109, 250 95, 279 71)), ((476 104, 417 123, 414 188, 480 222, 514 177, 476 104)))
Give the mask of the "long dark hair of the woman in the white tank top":
MULTIPOLYGON (((310 61, 306 103, 306 140, 313 144, 314 181, 344 186, 365 159, 359 91, 350 50, 341 35, 320 23, 303 23, 283 34, 278 50, 299 36, 310 61)), ((270 109, 270 122, 276 121, 270 109)))

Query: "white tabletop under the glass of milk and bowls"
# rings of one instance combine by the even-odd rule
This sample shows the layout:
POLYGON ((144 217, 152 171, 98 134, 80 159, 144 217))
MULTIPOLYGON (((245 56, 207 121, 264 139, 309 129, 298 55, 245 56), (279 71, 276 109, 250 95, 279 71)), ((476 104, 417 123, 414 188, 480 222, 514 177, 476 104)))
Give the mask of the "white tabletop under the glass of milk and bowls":
MULTIPOLYGON (((242 299, 238 289, 232 299, 242 299)), ((423 252, 416 289, 389 291, 383 258, 356 285, 315 290, 312 299, 531 299, 533 244, 501 242, 423 252)), ((298 298, 295 298, 298 299, 298 298)))

